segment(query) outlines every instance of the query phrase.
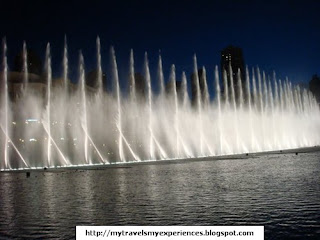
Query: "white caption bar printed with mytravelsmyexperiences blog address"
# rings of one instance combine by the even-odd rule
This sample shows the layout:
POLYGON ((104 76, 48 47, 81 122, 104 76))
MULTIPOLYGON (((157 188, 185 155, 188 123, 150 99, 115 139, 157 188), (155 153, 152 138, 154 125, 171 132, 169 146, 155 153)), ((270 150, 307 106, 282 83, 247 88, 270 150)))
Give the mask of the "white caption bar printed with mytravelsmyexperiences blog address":
POLYGON ((77 240, 263 240, 263 226, 77 226, 77 240))

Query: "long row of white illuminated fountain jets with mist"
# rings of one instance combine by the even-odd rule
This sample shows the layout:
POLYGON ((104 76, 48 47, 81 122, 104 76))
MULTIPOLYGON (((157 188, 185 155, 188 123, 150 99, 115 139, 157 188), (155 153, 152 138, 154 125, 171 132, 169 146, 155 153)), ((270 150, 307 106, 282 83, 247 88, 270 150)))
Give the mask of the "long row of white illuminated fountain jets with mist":
MULTIPOLYGON (((48 44, 45 81, 39 83, 43 92, 39 92, 28 79, 27 46, 23 43, 22 94, 10 98, 4 40, 0 116, 2 171, 199 158, 320 143, 320 110, 315 98, 287 79, 278 80, 275 73, 270 79, 259 68, 252 69, 251 75, 246 68, 243 81, 239 71, 233 79, 231 65, 222 73, 216 66, 215 98, 211 100, 211 82, 207 81, 203 67, 201 75, 193 77, 196 96, 192 104, 186 74, 182 73, 178 86, 174 65, 165 84, 160 54, 159 93, 152 89, 147 53, 142 85, 145 88, 138 89, 141 84, 135 77, 131 50, 126 94, 120 90, 116 55, 111 48, 113 90, 110 93, 103 87, 99 38, 96 47, 96 88, 86 85, 81 53, 79 84, 68 80, 65 40, 62 84, 55 84, 52 79, 48 44)), ((196 56, 193 64, 193 72, 198 73, 196 56)))

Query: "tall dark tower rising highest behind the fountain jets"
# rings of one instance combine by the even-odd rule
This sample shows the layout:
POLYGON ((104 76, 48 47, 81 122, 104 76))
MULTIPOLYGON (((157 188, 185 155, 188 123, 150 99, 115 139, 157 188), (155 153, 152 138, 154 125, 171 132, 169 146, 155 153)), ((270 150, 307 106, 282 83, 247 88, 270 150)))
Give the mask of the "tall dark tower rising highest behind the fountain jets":
MULTIPOLYGON (((233 73, 233 85, 235 89, 235 94, 236 97, 238 97, 238 70, 240 70, 240 76, 241 76, 241 83, 242 87, 245 87, 245 63, 243 59, 243 53, 242 49, 239 47, 234 47, 232 45, 224 48, 221 51, 221 61, 220 61, 220 66, 221 66, 221 74, 223 74, 224 70, 227 72, 227 83, 228 83, 228 88, 230 89, 230 70, 229 66, 231 64, 232 68, 232 73, 233 73)), ((222 79, 222 91, 224 90, 224 82, 222 79)))

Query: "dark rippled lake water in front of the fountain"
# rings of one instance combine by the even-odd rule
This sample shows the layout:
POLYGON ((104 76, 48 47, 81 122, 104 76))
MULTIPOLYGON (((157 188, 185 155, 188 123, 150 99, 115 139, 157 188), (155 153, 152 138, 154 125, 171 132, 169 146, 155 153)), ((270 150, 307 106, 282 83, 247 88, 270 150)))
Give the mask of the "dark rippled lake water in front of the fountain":
POLYGON ((0 175, 0 237, 74 238, 76 225, 264 225, 320 235, 320 153, 0 175))

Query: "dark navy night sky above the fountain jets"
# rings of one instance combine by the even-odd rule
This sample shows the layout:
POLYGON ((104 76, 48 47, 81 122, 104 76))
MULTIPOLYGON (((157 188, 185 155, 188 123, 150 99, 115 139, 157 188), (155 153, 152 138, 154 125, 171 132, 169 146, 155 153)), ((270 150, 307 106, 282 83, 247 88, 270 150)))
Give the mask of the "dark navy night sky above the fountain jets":
POLYGON ((50 42, 56 76, 61 72, 64 34, 74 76, 79 49, 86 70, 94 68, 97 35, 105 71, 109 72, 113 45, 123 77, 133 48, 138 71, 147 51, 154 74, 161 49, 166 76, 173 63, 177 76, 182 70, 189 76, 196 53, 212 80, 220 51, 229 44, 243 49, 250 67, 259 66, 268 73, 275 70, 280 78, 308 82, 320 73, 319 1, 11 0, 1 3, 0 33, 7 37, 11 62, 23 40, 41 57, 50 42))

